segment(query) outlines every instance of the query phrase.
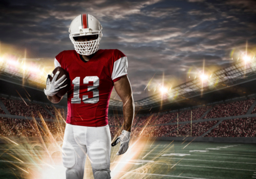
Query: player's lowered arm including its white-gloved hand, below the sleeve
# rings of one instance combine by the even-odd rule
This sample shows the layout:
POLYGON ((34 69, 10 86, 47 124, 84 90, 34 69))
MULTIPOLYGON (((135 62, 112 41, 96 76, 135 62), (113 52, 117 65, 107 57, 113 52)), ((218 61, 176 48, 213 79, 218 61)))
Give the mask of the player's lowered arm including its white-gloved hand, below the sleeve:
POLYGON ((134 118, 134 101, 132 87, 126 75, 122 76, 118 81, 114 82, 114 86, 117 94, 123 102, 124 130, 111 145, 115 146, 120 142, 120 147, 116 154, 121 155, 125 153, 129 147, 134 118))

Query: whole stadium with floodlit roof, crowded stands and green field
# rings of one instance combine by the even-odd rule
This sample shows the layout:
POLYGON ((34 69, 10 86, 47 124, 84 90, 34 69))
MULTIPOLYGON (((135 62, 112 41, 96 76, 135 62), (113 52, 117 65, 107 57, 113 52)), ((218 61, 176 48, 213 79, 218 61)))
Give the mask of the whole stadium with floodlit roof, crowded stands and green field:
MULTIPOLYGON (((240 60, 135 101, 129 155, 111 156, 112 177, 256 177, 255 64, 254 57, 240 60)), ((61 178, 49 173, 63 170, 67 95, 50 103, 37 67, 20 66, 1 58, 0 176, 61 178)), ((109 125, 114 139, 123 128, 121 101, 110 100, 109 125)), ((86 170, 91 177, 89 160, 86 170)))

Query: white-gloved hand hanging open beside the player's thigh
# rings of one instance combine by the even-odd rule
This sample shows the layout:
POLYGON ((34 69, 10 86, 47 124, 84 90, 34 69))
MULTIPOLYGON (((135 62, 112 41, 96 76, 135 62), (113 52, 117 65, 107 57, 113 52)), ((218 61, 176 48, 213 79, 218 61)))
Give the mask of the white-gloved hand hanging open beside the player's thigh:
POLYGON ((116 155, 121 155, 127 151, 130 142, 130 135, 131 132, 123 130, 121 135, 118 136, 117 139, 111 144, 112 146, 115 146, 120 142, 120 148, 116 155))

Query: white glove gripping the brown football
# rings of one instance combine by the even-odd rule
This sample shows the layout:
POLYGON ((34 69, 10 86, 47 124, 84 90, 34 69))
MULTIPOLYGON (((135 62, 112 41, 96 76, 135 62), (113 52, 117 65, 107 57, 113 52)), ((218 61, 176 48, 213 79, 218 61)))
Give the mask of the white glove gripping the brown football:
POLYGON ((52 81, 50 81, 51 76, 48 75, 48 78, 46 80, 46 89, 44 89, 46 96, 54 96, 58 93, 58 91, 61 88, 66 87, 68 85, 66 84, 61 86, 67 80, 66 75, 63 75, 57 81, 55 81, 58 75, 59 75, 59 71, 55 73, 55 75, 52 78, 52 81))

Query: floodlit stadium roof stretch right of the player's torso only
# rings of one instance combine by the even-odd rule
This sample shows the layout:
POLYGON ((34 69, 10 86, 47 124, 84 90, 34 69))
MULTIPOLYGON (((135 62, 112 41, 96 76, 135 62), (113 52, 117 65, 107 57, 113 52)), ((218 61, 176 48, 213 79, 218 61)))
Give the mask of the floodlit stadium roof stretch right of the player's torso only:
MULTIPOLYGON (((239 61, 227 66, 226 68, 215 71, 211 74, 211 77, 205 81, 202 81, 200 78, 190 80, 175 86, 165 95, 156 94, 136 101, 135 107, 148 109, 160 105, 166 105, 251 80, 256 80, 255 63, 245 64, 244 61, 239 61)), ((122 102, 111 100, 110 105, 122 107, 122 102)))

